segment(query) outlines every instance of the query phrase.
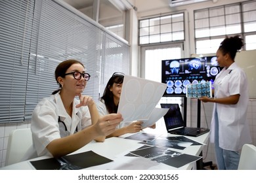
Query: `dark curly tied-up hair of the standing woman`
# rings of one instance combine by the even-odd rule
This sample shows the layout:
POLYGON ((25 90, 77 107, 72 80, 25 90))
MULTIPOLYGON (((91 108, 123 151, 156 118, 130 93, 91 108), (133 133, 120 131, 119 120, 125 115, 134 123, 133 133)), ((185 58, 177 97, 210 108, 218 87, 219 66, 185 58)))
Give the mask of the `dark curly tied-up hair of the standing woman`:
POLYGON ((223 42, 221 42, 219 50, 221 50, 223 55, 230 54, 230 58, 234 60, 236 52, 241 50, 242 46, 244 46, 243 39, 241 39, 239 35, 236 35, 234 37, 226 37, 223 42))

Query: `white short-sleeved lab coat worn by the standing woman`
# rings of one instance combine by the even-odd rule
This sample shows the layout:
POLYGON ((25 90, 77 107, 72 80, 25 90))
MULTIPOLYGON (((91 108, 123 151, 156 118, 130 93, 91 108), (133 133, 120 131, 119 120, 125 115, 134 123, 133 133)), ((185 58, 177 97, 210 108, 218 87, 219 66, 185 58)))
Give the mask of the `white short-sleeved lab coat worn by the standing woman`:
POLYGON ((219 146, 225 150, 238 151, 245 143, 251 143, 249 125, 247 123, 247 105, 249 101, 248 84, 244 71, 232 63, 228 69, 216 76, 214 82, 215 97, 223 98, 240 94, 236 105, 214 104, 211 120, 211 142, 214 142, 215 112, 219 118, 219 146))

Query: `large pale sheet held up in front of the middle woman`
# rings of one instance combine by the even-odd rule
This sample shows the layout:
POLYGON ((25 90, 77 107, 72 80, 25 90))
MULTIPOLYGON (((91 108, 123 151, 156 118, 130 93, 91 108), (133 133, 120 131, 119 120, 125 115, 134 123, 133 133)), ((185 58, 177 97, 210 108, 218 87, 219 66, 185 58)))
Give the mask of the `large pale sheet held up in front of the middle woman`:
POLYGON ((160 101, 166 84, 125 75, 117 112, 123 122, 148 120, 160 101))

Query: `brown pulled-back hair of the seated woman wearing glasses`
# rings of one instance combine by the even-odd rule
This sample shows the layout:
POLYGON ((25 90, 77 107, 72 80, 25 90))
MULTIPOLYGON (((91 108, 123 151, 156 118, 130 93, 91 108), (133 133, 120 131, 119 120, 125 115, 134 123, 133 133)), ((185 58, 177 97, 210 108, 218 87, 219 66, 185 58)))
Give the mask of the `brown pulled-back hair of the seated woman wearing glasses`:
POLYGON ((81 63, 80 61, 76 60, 76 59, 67 59, 65 61, 62 61, 61 63, 58 64, 58 66, 55 69, 55 80, 57 82, 57 84, 59 85, 59 89, 55 90, 52 94, 54 95, 55 93, 58 93, 62 86, 60 83, 58 83, 58 77, 61 76, 62 78, 65 77, 65 73, 68 70, 68 68, 70 68, 71 65, 73 65, 74 63, 79 63, 81 64, 83 67, 85 67, 83 65, 83 63, 81 63))

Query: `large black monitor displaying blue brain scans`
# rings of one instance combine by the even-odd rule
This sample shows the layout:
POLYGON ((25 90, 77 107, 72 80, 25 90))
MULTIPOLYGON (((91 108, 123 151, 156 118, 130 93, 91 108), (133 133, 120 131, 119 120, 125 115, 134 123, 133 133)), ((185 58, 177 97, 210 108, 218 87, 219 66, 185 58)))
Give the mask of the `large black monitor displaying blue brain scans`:
POLYGON ((215 56, 161 61, 161 82, 167 84, 163 97, 186 97, 186 85, 213 82, 221 71, 215 56))

